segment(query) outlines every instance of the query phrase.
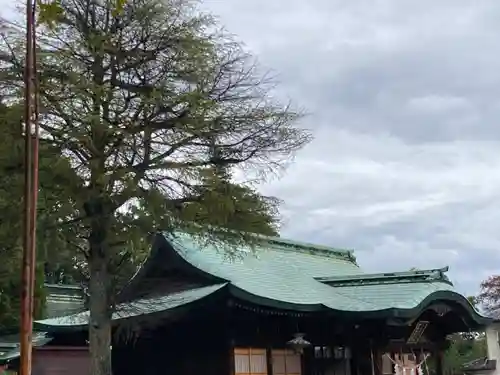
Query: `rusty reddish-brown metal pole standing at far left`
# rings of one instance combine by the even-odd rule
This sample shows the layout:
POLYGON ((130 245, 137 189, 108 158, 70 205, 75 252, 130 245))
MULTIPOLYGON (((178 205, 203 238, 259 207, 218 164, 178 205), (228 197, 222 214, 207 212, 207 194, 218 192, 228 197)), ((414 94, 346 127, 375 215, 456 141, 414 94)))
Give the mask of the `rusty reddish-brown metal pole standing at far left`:
MULTIPOLYGON (((24 165, 24 241, 21 295, 21 363, 20 375, 31 375, 31 352, 33 334, 33 275, 35 240, 33 230, 33 3, 26 0, 26 60, 24 66, 24 122, 25 122, 25 165, 24 165)), ((36 212, 35 212, 36 214, 36 212)))

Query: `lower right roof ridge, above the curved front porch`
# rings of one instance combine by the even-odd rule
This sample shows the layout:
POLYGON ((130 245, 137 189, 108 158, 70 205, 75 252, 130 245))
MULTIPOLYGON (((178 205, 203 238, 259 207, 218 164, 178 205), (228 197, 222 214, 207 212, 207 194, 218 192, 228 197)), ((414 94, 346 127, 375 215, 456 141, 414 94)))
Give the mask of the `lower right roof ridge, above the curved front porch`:
POLYGON ((345 275, 333 277, 319 277, 316 280, 331 286, 352 286, 352 285, 376 285, 388 283, 410 283, 410 282, 444 282, 453 286, 448 276, 445 274, 449 267, 434 268, 428 270, 414 270, 402 272, 365 273, 359 275, 345 275))

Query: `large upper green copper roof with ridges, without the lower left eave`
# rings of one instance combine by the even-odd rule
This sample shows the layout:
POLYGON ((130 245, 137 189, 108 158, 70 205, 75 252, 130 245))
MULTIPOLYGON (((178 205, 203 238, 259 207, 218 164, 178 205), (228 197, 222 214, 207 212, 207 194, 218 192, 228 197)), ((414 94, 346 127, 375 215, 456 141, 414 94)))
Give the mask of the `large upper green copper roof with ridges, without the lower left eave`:
POLYGON ((186 235, 168 241, 189 264, 227 280, 233 294, 261 305, 350 313, 411 311, 434 295, 472 309, 455 292, 444 274, 447 269, 365 274, 350 252, 300 243, 289 246, 290 241, 274 238, 263 238, 255 252, 242 247, 236 259, 186 235))

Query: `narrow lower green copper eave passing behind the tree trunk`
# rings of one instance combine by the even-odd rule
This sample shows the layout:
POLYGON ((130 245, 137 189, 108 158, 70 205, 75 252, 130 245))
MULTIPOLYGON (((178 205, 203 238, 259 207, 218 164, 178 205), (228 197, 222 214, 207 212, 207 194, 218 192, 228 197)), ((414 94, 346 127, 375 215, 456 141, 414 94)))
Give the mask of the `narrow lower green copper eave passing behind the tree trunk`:
MULTIPOLYGON (((224 286, 225 284, 210 285, 203 288, 190 289, 179 293, 169 294, 167 296, 146 298, 131 303, 123 303, 118 306, 117 311, 113 314, 113 320, 127 319, 134 316, 171 310, 207 297, 208 295, 222 289, 224 286)), ((38 320, 35 322, 34 327, 36 330, 42 331, 48 327, 83 327, 88 325, 88 323, 89 312, 84 311, 78 314, 38 320)))

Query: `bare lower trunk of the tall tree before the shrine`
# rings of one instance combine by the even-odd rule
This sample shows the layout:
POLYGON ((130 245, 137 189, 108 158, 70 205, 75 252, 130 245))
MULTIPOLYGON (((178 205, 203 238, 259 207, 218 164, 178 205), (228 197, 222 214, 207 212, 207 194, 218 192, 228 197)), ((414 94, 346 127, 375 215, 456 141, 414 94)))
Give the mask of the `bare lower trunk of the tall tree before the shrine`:
POLYGON ((111 375, 110 275, 106 249, 106 219, 94 220, 90 235, 90 374, 111 375))

